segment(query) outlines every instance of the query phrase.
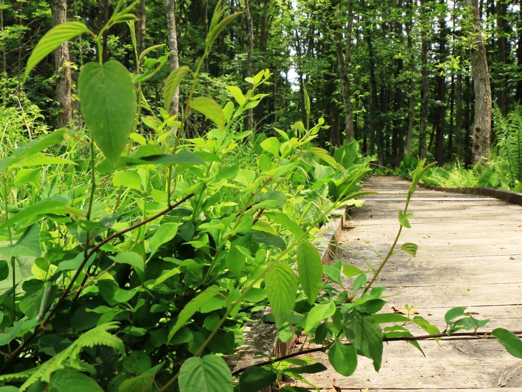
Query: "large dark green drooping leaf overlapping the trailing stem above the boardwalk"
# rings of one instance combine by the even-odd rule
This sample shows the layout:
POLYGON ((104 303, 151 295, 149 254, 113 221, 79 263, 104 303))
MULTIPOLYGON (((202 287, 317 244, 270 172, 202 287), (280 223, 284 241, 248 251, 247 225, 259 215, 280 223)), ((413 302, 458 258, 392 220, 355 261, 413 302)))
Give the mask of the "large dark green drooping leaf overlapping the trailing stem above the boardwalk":
POLYGON ((346 338, 361 353, 373 360, 375 371, 381 368, 383 356, 383 330, 377 325, 372 315, 355 310, 345 315, 343 329, 346 338))

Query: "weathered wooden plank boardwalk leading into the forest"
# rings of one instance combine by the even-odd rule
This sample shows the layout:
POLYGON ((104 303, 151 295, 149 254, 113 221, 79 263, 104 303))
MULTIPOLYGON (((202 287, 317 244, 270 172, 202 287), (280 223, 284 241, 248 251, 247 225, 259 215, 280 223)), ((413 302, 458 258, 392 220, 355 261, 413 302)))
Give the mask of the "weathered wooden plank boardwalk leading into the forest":
MULTIPOLYGON (((367 182, 365 189, 379 194, 351 211, 350 227, 340 238, 339 254, 345 263, 362 269, 366 263, 378 266, 372 249, 385 253, 392 244, 397 211, 404 209, 409 185, 398 177, 372 177, 367 182)), ((412 228, 402 230, 399 246, 407 241, 418 244, 417 258, 400 252, 389 260, 379 284, 389 287, 387 293, 399 294, 388 298, 383 311, 412 305, 443 330, 449 308, 468 306, 477 313, 474 317, 491 319, 481 330, 522 329, 522 206, 418 188, 408 212, 413 213, 412 228)), ((425 334, 413 327, 411 331, 425 334)), ((311 354, 328 371, 307 379, 325 390, 335 379, 341 390, 355 391, 522 391, 522 361, 493 339, 430 340, 420 345, 425 358, 406 342, 385 345, 379 373, 359 356, 351 377, 337 374, 324 354, 311 354)))

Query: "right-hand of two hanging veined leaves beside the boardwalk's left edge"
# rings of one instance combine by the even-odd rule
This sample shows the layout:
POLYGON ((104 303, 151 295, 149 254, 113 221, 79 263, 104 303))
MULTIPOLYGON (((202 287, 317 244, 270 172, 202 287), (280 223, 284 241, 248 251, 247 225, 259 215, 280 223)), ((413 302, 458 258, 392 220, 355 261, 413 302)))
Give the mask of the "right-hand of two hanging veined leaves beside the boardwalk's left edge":
POLYGON ((297 267, 303 291, 308 302, 313 304, 323 283, 323 262, 315 246, 309 242, 302 242, 299 245, 297 267))

